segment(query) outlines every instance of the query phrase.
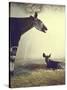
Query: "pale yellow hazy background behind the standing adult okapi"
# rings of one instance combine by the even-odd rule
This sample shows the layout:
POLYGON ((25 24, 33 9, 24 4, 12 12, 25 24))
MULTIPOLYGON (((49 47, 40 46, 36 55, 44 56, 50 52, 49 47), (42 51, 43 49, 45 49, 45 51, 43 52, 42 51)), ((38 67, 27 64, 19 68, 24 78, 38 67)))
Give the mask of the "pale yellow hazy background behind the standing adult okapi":
MULTIPOLYGON (((11 17, 25 17, 27 14, 23 4, 11 8, 11 17), (18 13, 19 12, 19 13, 18 13)), ((52 58, 64 57, 65 43, 65 7, 57 5, 43 5, 38 18, 47 26, 47 33, 35 28, 21 36, 17 50, 17 59, 42 58, 43 52, 52 54, 52 58)))

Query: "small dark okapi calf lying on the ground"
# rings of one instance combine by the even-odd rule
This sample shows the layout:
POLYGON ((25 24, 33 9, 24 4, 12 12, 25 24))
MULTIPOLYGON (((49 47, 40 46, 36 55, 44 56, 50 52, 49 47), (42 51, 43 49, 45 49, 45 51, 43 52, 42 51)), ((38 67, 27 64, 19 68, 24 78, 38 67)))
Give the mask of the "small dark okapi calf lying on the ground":
POLYGON ((52 59, 49 59, 51 57, 51 54, 45 55, 45 53, 43 53, 43 57, 45 58, 47 68, 52 68, 52 69, 61 69, 62 68, 62 65, 61 65, 62 62, 53 61, 52 59))

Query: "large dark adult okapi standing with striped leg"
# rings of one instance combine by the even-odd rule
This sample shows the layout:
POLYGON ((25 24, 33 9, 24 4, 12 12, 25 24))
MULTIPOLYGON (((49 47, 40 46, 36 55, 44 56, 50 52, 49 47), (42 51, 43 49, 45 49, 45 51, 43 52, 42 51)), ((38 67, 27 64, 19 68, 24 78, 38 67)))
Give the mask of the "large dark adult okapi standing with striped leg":
MULTIPOLYGON (((36 30, 46 32, 47 27, 44 23, 37 18, 38 14, 35 12, 34 16, 26 18, 9 18, 9 49, 10 49, 10 61, 13 66, 17 51, 18 42, 22 34, 35 27, 36 30), (15 49, 16 48, 16 49, 15 49)), ((13 69, 11 69, 13 72, 13 69)))

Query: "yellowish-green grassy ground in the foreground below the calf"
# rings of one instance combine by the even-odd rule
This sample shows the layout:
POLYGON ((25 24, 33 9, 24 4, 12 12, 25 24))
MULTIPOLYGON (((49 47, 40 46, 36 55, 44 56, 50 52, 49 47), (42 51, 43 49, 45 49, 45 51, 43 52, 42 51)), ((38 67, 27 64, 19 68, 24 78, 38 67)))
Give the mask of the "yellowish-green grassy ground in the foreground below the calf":
POLYGON ((29 74, 11 78, 11 87, 62 85, 65 83, 64 70, 36 69, 29 74))

